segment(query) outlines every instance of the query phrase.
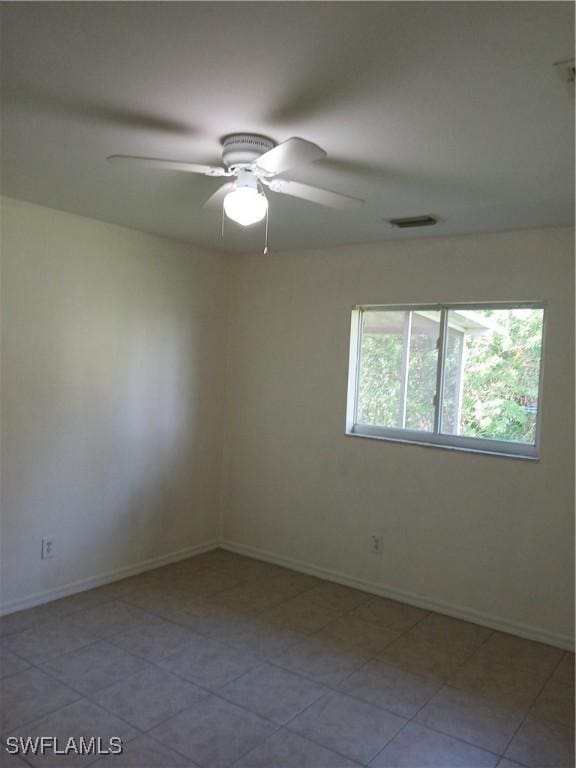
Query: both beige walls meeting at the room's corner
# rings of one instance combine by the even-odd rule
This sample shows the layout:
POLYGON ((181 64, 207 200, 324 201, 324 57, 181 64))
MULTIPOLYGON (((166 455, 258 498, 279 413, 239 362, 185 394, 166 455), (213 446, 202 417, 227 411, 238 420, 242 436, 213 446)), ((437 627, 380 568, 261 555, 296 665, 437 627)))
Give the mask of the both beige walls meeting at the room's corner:
POLYGON ((1 223, 5 607, 223 535, 567 642, 570 231, 227 259, 12 200, 1 223), (353 304, 495 299, 548 302, 539 462, 344 436, 353 304))

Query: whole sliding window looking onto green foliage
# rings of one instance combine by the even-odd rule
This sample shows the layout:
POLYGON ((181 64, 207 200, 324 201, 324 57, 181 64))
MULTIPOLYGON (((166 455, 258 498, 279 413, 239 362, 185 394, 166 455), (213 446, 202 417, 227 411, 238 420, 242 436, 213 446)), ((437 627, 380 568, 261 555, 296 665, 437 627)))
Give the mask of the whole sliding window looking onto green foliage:
POLYGON ((541 304, 356 307, 348 434, 538 456, 541 304))

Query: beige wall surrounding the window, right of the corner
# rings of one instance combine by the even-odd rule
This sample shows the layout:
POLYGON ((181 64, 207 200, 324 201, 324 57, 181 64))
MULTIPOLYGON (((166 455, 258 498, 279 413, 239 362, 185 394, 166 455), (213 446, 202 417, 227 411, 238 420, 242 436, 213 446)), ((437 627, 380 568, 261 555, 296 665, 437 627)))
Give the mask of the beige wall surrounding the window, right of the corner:
POLYGON ((278 253, 233 272, 225 539, 565 643, 571 232, 278 253), (539 462, 345 437, 352 305, 515 299, 548 302, 539 462))

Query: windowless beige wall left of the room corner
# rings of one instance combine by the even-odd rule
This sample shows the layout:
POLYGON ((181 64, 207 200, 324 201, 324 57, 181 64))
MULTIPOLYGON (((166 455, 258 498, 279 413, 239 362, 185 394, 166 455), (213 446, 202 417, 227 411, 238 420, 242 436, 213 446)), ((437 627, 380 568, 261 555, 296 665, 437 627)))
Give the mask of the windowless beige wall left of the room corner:
POLYGON ((218 536, 227 268, 3 203, 6 605, 218 536))

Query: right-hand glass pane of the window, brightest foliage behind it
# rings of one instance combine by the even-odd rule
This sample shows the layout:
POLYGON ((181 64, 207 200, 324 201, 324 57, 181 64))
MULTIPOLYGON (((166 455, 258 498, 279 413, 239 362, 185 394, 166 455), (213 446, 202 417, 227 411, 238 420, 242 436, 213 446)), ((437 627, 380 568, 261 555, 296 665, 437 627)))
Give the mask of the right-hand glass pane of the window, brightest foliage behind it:
POLYGON ((534 444, 542 309, 449 310, 445 434, 534 444))

